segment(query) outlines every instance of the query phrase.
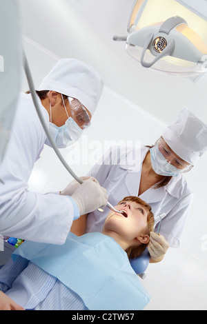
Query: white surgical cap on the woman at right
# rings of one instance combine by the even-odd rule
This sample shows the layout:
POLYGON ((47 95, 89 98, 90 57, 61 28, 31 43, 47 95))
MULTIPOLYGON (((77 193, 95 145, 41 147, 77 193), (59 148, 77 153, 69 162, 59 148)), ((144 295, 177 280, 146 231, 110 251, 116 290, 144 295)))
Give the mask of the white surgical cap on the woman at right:
POLYGON ((188 108, 182 108, 162 134, 170 148, 184 161, 195 165, 207 150, 207 124, 188 108))

